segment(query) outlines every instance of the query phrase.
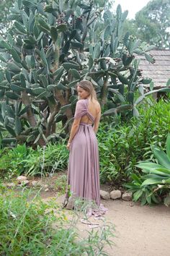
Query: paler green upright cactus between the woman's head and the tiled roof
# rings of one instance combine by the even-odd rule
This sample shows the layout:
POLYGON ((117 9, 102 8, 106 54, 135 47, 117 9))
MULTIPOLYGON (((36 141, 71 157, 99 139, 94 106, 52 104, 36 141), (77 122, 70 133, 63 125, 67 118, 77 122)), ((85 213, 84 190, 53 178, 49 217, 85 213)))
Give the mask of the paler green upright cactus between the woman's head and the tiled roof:
MULTIPOLYGON (((151 83, 151 79, 142 77, 138 69, 140 59, 136 59, 135 55, 144 55, 147 61, 154 63, 155 60, 148 51, 155 46, 148 46, 129 32, 123 34, 127 15, 128 11, 122 12, 118 5, 115 15, 109 10, 104 12, 104 30, 99 30, 97 24, 94 24, 91 29, 89 71, 85 77, 91 77, 92 80, 89 78, 91 82, 96 82, 102 106, 108 99, 111 103, 109 106, 113 106, 105 111, 104 115, 117 114, 118 111, 129 109, 133 111, 134 116, 138 116, 136 108, 138 103, 146 95, 158 91, 153 90, 144 95, 143 85, 151 83), (138 99, 135 99, 135 90, 139 90, 141 94, 138 99)), ((160 90, 169 91, 170 89, 160 90)))

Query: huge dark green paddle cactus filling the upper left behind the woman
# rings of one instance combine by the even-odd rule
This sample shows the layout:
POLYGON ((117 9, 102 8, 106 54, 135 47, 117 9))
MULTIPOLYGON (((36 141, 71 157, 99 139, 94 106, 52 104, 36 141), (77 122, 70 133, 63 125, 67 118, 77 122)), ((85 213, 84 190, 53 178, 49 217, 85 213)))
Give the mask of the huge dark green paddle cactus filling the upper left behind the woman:
POLYGON ((58 121, 64 125, 73 116, 84 31, 102 9, 92 1, 18 0, 11 12, 12 30, 0 38, 0 129, 11 135, 2 141, 44 144, 58 121))

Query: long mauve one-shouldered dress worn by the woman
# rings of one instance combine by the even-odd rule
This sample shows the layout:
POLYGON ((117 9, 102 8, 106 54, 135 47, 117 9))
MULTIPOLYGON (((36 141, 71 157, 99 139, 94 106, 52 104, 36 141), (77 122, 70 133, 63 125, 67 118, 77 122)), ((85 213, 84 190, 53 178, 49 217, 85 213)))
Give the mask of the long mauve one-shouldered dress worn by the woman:
MULTIPOLYGON (((94 122, 94 116, 88 111, 88 99, 76 103, 74 119, 87 115, 94 122)), ((71 192, 66 193, 68 208, 74 208, 75 199, 81 198, 95 202, 98 211, 105 213, 106 209, 100 205, 99 193, 99 150, 97 137, 91 124, 80 123, 76 135, 73 137, 68 162, 68 187, 71 192)), ((67 207, 66 207, 67 208, 67 207)), ((97 210, 95 210, 97 213, 97 210)), ((91 212, 91 214, 93 214, 91 212)))

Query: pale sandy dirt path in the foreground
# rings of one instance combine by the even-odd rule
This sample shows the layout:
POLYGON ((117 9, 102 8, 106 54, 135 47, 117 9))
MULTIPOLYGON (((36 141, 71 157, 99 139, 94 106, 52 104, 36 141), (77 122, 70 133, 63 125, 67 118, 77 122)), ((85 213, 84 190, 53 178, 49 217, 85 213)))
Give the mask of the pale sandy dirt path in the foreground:
MULTIPOLYGON (((44 200, 48 200, 46 198, 44 200)), ((62 201, 59 197, 58 201, 62 201)), ((106 221, 115 225, 115 246, 106 247, 110 256, 169 256, 170 208, 164 205, 140 206, 122 200, 103 200, 109 210, 106 221)), ((68 215, 69 210, 66 210, 68 215)), ((95 220, 91 218, 94 223, 95 220)), ((98 221, 99 223, 99 221, 98 221)), ((79 235, 85 237, 91 229, 79 221, 79 235)))

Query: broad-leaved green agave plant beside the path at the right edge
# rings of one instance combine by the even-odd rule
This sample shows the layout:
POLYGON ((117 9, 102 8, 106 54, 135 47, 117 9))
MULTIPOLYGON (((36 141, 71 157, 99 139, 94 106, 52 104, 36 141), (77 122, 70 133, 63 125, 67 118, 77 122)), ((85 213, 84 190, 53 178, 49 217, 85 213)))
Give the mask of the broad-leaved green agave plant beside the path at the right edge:
POLYGON ((143 176, 132 175, 133 182, 125 185, 134 192, 133 199, 142 204, 159 202, 164 196, 164 203, 170 205, 170 134, 166 140, 166 153, 161 148, 154 147, 155 162, 140 161, 137 165, 142 169, 143 176))

